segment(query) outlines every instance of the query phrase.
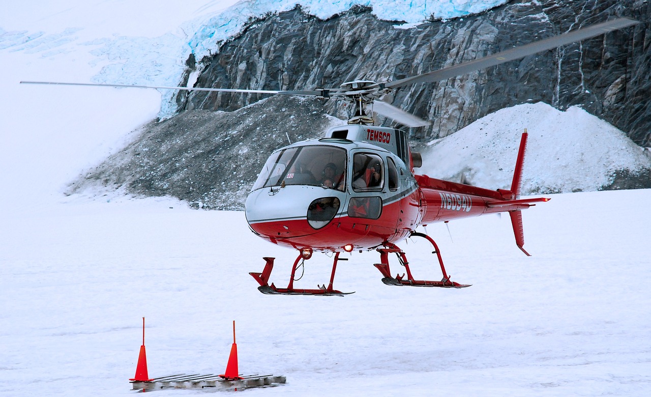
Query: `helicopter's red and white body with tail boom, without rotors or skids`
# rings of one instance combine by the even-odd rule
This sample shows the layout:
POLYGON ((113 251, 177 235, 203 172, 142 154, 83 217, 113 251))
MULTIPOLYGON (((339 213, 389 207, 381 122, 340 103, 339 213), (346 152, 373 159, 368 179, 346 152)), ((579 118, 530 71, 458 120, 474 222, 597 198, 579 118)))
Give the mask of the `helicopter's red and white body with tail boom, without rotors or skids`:
POLYGON ((522 208, 486 205, 513 199, 508 190, 415 175, 419 161, 405 138, 402 130, 348 125, 278 149, 247 198, 251 230, 298 250, 370 250, 420 224, 522 208))

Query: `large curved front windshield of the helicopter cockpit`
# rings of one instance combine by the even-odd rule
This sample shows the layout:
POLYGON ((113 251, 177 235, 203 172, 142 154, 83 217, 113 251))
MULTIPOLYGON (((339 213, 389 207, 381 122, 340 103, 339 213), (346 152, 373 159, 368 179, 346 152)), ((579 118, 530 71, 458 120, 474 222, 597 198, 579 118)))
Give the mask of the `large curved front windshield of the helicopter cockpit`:
POLYGON ((308 184, 346 190, 346 150, 309 145, 290 147, 271 154, 253 190, 281 184, 308 184))

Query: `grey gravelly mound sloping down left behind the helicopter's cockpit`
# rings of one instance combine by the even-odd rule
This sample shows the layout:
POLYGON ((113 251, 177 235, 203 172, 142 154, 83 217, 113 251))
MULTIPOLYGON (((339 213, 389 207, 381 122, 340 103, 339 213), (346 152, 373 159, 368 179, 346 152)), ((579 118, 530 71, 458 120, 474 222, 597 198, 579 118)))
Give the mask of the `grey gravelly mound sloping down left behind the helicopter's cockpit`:
POLYGON ((242 210, 271 152, 342 125, 314 98, 271 96, 231 112, 190 110, 150 123, 132 143, 72 182, 66 194, 172 196, 242 210), (305 128, 306 125, 318 126, 305 128))

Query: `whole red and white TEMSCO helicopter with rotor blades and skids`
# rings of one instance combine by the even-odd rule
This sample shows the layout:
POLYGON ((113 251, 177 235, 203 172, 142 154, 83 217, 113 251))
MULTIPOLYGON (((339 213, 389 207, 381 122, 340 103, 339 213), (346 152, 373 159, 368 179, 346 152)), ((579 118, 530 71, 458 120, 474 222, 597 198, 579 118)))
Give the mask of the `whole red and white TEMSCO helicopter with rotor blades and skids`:
MULTIPOLYGON (((418 76, 382 83, 350 81, 336 89, 269 91, 109 86, 301 95, 350 102, 355 108, 355 115, 348 125, 330 128, 324 138, 300 141, 274 151, 247 198, 245 214, 253 233, 271 243, 298 250, 287 287, 269 284, 274 258, 264 257, 264 270, 250 273, 260 284, 258 289, 273 295, 345 295, 333 289, 333 280, 337 263, 347 260, 340 258, 340 253, 353 250, 376 250, 380 254, 380 263, 376 263, 375 267, 380 270, 382 281, 387 285, 460 288, 468 285, 450 280, 437 244, 428 235, 417 232, 416 228, 432 222, 508 212, 516 244, 529 255, 523 248, 520 211, 549 199, 519 197, 527 147, 526 130, 519 145, 510 189, 490 190, 418 175, 415 169, 421 166, 421 156, 410 150, 406 132, 374 126, 366 111, 374 111, 407 126, 426 125, 418 117, 378 99, 404 85, 446 80, 636 23, 639 22, 618 18, 418 76), (422 237, 434 246, 433 253, 443 273, 441 280, 413 278, 406 254, 395 244, 408 237, 422 237), (316 289, 294 288, 299 262, 310 259, 314 252, 334 253, 329 284, 316 289), (406 274, 391 275, 389 254, 396 254, 406 274)), ((21 83, 105 85, 42 81, 21 83)))

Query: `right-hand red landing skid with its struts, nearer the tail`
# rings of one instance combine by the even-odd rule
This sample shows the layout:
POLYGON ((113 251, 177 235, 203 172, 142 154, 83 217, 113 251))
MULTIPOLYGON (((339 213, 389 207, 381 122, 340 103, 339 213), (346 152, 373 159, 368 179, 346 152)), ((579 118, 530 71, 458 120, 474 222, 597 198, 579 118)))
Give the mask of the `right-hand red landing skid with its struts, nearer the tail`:
POLYGON ((439 252, 439 247, 436 245, 434 240, 426 234, 412 232, 410 237, 423 237, 434 246, 434 251, 432 254, 436 254, 437 259, 439 260, 439 265, 441 265, 441 272, 443 272, 443 279, 441 281, 430 281, 430 280, 415 280, 411 275, 411 269, 409 269, 409 261, 404 252, 396 244, 393 243, 384 243, 383 248, 377 248, 377 251, 380 252, 380 261, 381 263, 376 263, 374 266, 384 276, 382 282, 387 284, 387 286, 409 286, 409 287, 443 287, 443 288, 464 288, 469 287, 472 284, 459 284, 458 282, 450 281, 450 276, 445 272, 445 266, 443 266, 443 259, 441 258, 441 253, 439 252), (396 274, 395 277, 391 276, 391 269, 389 269, 389 254, 396 254, 398 256, 398 261, 400 265, 404 266, 407 278, 405 274, 400 276, 396 274))

